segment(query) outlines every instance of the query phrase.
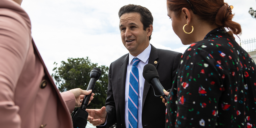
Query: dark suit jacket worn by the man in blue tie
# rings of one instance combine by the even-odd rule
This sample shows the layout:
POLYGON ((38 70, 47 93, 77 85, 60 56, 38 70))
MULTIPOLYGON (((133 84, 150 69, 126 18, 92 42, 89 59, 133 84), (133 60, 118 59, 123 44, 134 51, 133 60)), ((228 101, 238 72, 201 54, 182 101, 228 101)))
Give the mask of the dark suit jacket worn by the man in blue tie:
MULTIPOLYGON (((159 81, 166 90, 172 87, 181 56, 182 54, 178 52, 156 49, 154 46, 151 48, 148 64, 156 66, 160 76, 159 81), (154 61, 157 61, 157 64, 154 64, 154 61)), ((106 99, 108 119, 105 128, 109 128, 115 123, 116 128, 125 128, 124 97, 128 60, 129 54, 125 54, 110 64, 106 99)), ((164 128, 165 110, 166 106, 162 103, 162 99, 154 96, 152 86, 145 81, 142 98, 143 128, 164 128)))

